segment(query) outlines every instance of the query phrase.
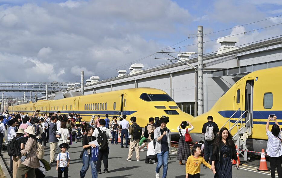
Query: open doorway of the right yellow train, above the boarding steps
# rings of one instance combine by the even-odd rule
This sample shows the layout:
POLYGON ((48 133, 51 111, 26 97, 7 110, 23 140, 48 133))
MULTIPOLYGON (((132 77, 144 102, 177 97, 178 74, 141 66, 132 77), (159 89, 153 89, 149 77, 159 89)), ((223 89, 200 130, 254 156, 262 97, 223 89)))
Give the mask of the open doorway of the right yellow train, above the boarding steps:
POLYGON ((245 122, 247 123, 251 119, 251 125, 247 123, 246 127, 253 127, 253 92, 254 80, 247 80, 245 90, 245 111, 249 111, 249 113, 245 113, 245 122))

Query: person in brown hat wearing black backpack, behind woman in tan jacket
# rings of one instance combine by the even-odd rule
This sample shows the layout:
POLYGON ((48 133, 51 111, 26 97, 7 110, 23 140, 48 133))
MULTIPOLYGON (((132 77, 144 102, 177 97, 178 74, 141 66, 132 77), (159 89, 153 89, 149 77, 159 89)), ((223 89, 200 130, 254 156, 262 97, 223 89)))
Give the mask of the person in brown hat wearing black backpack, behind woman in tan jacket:
MULTIPOLYGON (((18 150, 23 150, 24 145, 27 142, 27 137, 24 137, 24 129, 19 128, 18 132, 16 133, 17 136, 14 138, 17 142, 16 146, 18 147, 18 150)), ((21 155, 20 155, 21 156, 21 155)), ((17 169, 21 164, 21 157, 20 156, 13 156, 13 178, 17 175, 17 169)))

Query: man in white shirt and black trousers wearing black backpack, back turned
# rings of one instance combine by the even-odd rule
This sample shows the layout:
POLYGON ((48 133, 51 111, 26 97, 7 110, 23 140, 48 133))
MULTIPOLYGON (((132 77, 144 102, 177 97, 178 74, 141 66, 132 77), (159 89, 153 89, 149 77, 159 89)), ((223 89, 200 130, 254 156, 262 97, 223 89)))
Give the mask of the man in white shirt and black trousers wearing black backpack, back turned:
MULTIPOLYGON (((113 136, 111 134, 111 131, 110 129, 107 129, 105 127, 106 125, 106 121, 104 119, 100 119, 99 121, 99 124, 100 124, 100 131, 104 131, 106 132, 106 135, 107 135, 107 139, 112 139, 113 136)), ((92 136, 94 136, 96 138, 96 140, 98 140, 98 134, 99 134, 99 131, 98 131, 98 128, 95 128, 92 136)), ((101 164, 102 164, 102 159, 103 159, 103 163, 104 163, 104 172, 105 173, 108 173, 108 156, 109 156, 109 149, 105 149, 105 150, 99 150, 99 154, 98 154, 98 161, 97 161, 97 173, 98 174, 101 174, 101 164)))

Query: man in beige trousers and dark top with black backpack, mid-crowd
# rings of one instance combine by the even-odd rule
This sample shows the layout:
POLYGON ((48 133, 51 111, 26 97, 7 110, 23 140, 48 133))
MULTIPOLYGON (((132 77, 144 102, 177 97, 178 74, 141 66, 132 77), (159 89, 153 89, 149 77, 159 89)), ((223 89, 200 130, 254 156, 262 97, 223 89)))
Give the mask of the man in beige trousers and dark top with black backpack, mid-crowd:
POLYGON ((142 135, 142 128, 138 124, 136 124, 136 117, 131 117, 130 122, 132 123, 132 125, 130 125, 129 127, 129 134, 131 134, 131 138, 128 151, 128 158, 126 160, 131 161, 131 157, 133 155, 133 148, 135 148, 136 160, 140 161, 139 141, 142 135))

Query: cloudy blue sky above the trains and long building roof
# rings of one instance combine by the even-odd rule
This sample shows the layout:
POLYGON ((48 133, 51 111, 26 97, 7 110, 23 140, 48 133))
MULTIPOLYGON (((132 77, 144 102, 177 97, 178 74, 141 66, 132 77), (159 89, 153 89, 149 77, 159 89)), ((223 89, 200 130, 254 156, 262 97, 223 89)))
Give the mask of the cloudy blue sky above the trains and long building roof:
MULTIPOLYGON (((209 41, 282 23, 282 16, 271 18, 281 14, 280 0, 0 0, 0 81, 80 82, 82 70, 85 79, 107 79, 131 63, 166 63, 154 53, 174 44, 177 52, 197 51, 187 46, 196 38, 185 39, 198 25, 204 34, 232 28, 205 35, 209 41)), ((281 27, 238 35, 236 45, 281 35, 281 27)), ((219 45, 204 47, 210 53, 219 45)))

